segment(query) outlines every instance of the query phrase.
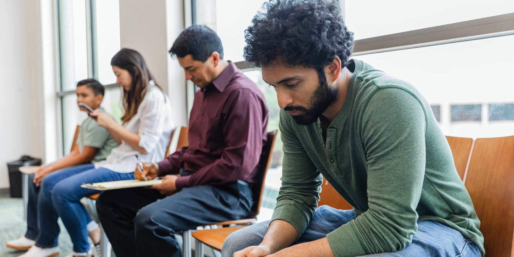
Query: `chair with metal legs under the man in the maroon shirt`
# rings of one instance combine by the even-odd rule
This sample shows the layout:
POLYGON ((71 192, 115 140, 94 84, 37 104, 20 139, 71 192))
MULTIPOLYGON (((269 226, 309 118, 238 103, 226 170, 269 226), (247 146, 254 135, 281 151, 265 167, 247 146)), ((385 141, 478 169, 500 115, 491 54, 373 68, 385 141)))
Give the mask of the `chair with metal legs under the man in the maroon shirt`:
MULTIPOLYGON (((243 225, 243 224, 252 224, 257 221, 257 215, 259 214, 261 210, 261 202, 262 202, 262 194, 264 192, 264 182, 266 179, 266 174, 268 173, 269 163, 271 162, 271 155, 273 154, 273 146, 275 143, 275 139, 277 138, 277 130, 274 130, 272 132, 268 132, 268 141, 266 145, 263 147, 263 151, 261 154, 261 158, 259 160, 259 171, 257 174, 255 174, 255 181, 252 185, 252 197, 254 199, 252 208, 250 210, 250 213, 247 218, 245 219, 238 219, 235 221, 225 221, 225 222, 219 222, 215 224, 206 224, 203 227, 211 227, 211 226, 222 226, 227 227, 226 229, 232 230, 233 227, 228 227, 230 225, 243 225)), ((237 227, 240 228, 240 227, 237 227)), ((237 229, 235 229, 237 230, 237 229)), ((234 231, 235 231, 234 230, 234 231)), ((188 230, 188 231, 182 231, 182 238, 183 238, 183 246, 182 246, 182 256, 183 257, 190 257, 191 256, 191 243, 187 242, 191 240, 191 235, 194 230, 188 230)), ((208 231, 208 230, 199 230, 200 231, 208 231)), ((194 232, 196 233, 196 232, 194 232)), ((195 245, 195 255, 203 256, 203 244, 202 242, 196 240, 195 245)), ((223 241, 222 241, 223 244, 223 241)), ((218 255, 214 253, 215 255, 218 255)))

